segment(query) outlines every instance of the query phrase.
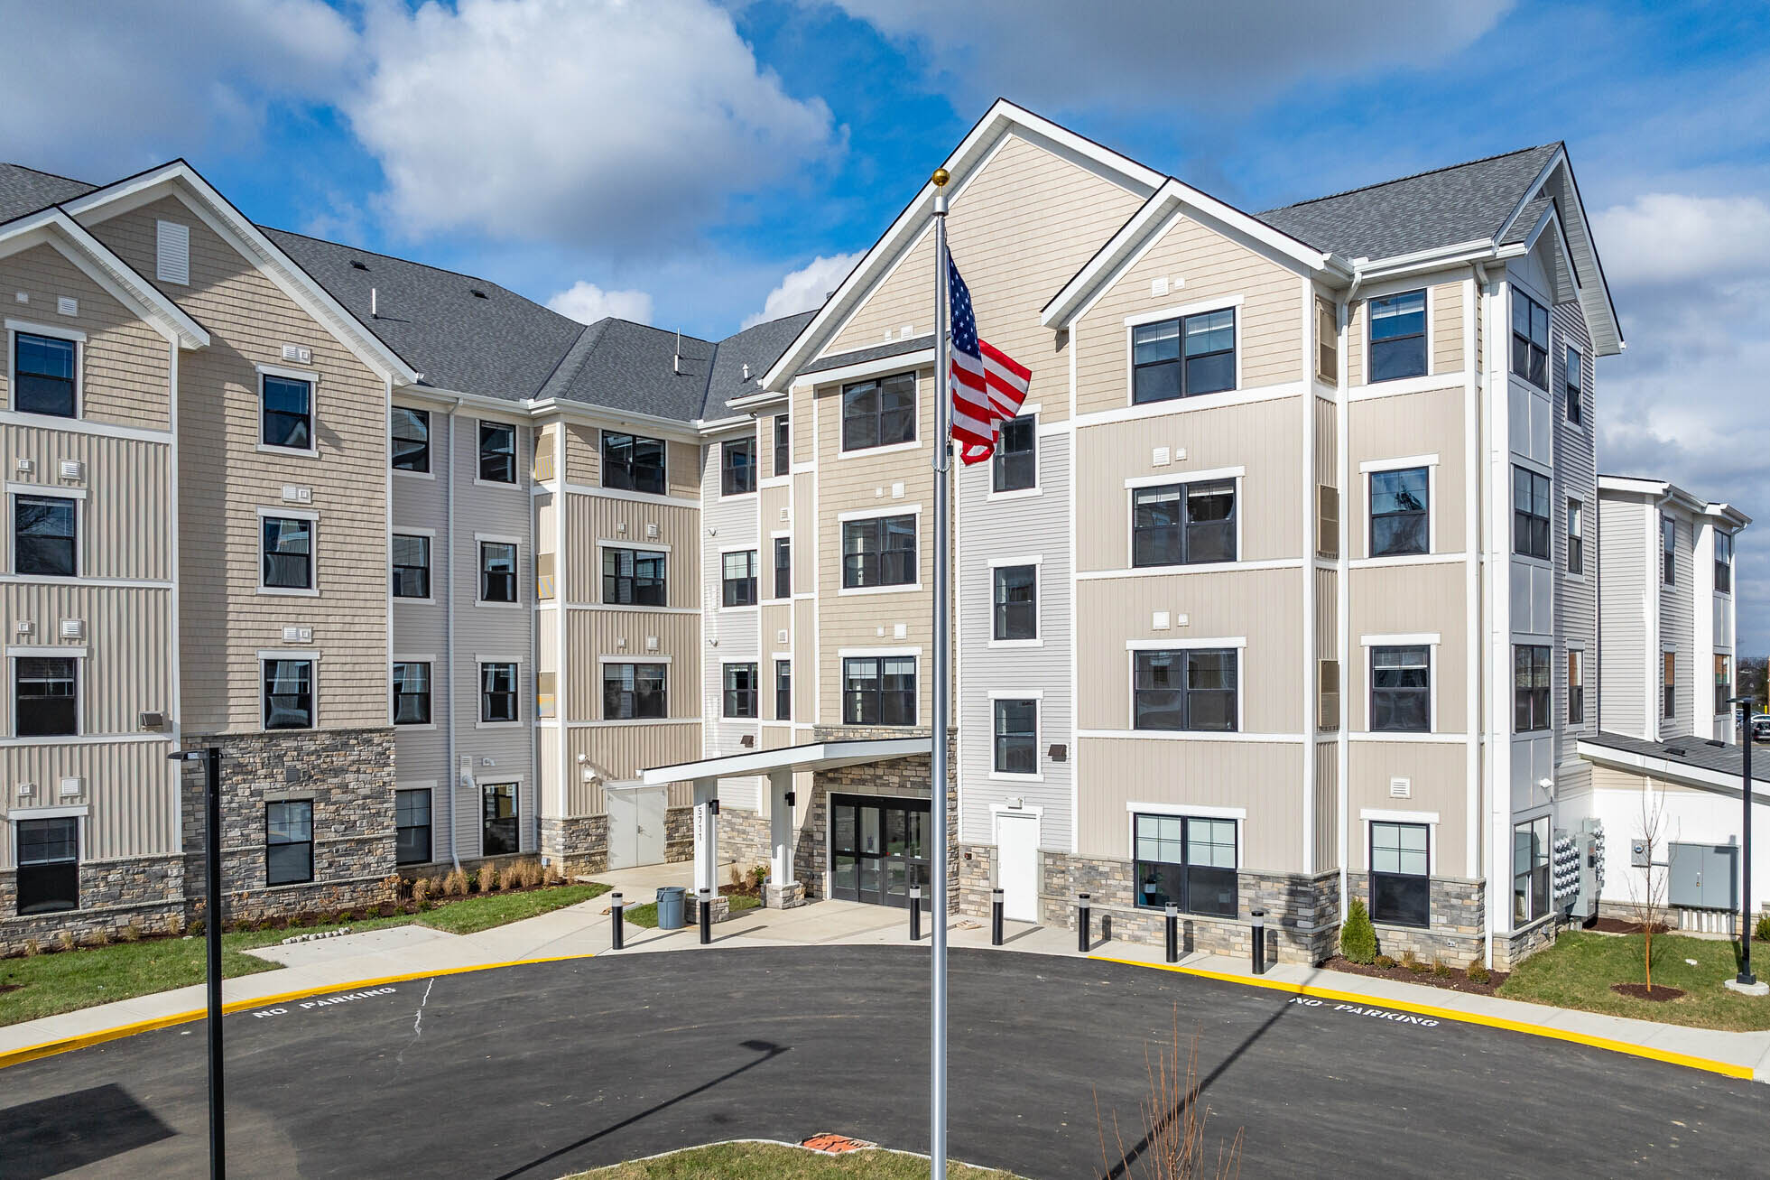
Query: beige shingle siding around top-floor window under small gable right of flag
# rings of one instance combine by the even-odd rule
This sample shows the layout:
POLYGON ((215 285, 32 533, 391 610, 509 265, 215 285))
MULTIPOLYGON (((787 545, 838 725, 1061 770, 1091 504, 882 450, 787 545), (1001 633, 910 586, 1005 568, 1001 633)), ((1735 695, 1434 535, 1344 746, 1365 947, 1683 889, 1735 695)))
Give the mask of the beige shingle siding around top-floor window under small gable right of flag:
POLYGON ((1296 271, 1182 216, 1073 326, 1078 413, 1131 406, 1127 315, 1234 296, 1243 299, 1235 310, 1239 388, 1303 381, 1303 287, 1296 271), (1166 294, 1150 294, 1156 278, 1168 280, 1166 294), (1184 285, 1175 283, 1181 278, 1184 285))

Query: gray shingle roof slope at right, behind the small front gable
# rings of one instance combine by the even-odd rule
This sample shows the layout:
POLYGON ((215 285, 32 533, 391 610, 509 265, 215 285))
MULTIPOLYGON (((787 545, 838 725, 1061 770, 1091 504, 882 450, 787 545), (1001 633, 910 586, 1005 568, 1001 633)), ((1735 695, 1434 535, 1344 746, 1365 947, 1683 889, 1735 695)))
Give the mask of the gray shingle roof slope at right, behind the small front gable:
POLYGON ((1559 144, 1421 172, 1258 214, 1292 237, 1349 259, 1492 239, 1559 144))

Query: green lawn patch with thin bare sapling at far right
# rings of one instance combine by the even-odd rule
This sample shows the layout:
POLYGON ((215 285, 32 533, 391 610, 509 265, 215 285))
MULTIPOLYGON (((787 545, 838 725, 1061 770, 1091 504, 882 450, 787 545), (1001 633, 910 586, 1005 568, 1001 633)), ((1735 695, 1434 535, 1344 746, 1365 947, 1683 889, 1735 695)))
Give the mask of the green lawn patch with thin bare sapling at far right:
MULTIPOLYGON (((1763 978, 1770 967, 1770 943, 1752 943, 1752 967, 1763 978)), ((1556 944, 1524 960, 1499 994, 1558 1008, 1584 1008, 1609 1015, 1719 1028, 1728 1031, 1770 1029, 1770 998, 1754 999, 1722 987, 1738 973, 1738 944, 1660 934, 1653 939, 1653 987, 1683 989, 1678 999, 1653 1001, 1618 996, 1611 983, 1644 983, 1641 935, 1616 937, 1572 930, 1556 944), (1687 959, 1694 959, 1692 967, 1687 959)))

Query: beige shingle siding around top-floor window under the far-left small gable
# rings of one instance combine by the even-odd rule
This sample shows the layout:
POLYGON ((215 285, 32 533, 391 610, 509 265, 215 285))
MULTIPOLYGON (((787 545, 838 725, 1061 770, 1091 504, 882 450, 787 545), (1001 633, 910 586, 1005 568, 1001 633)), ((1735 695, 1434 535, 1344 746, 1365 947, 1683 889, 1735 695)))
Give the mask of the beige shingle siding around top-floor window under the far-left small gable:
MULTIPOLYGON (((147 271, 152 273, 152 268, 147 271)), ((0 259, 5 319, 87 333, 80 349, 80 416, 87 422, 172 429, 172 345, 133 310, 119 303, 55 246, 42 245, 0 259), (19 303, 16 292, 30 301, 19 303), (57 298, 80 301, 78 315, 57 312, 57 298)), ((11 333, 5 345, 11 353, 11 333)), ((186 354, 188 358, 189 354, 186 354)), ((0 361, 0 406, 12 408, 11 354, 0 361)), ((50 420, 53 422, 53 418, 50 420)), ((11 468, 7 478, 12 478, 11 468)))

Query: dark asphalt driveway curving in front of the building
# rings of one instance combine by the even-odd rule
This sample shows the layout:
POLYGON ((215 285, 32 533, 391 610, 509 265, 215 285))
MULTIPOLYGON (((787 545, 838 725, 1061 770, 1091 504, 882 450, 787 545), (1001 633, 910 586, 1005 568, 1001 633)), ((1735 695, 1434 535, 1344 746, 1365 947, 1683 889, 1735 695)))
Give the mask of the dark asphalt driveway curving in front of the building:
MULTIPOLYGON (((1766 1091, 1520 1033, 1142 967, 950 957, 954 1155, 1101 1176, 1145 1045, 1200 1029, 1244 1176, 1761 1175, 1766 1091), (1108 1143, 1113 1139, 1108 1122, 1108 1143)), ((712 1139, 927 1145, 927 955, 706 950, 503 967, 227 1017, 235 1176, 552 1178, 712 1139)), ((202 1024, 0 1070, 0 1176, 207 1168, 202 1024)))

